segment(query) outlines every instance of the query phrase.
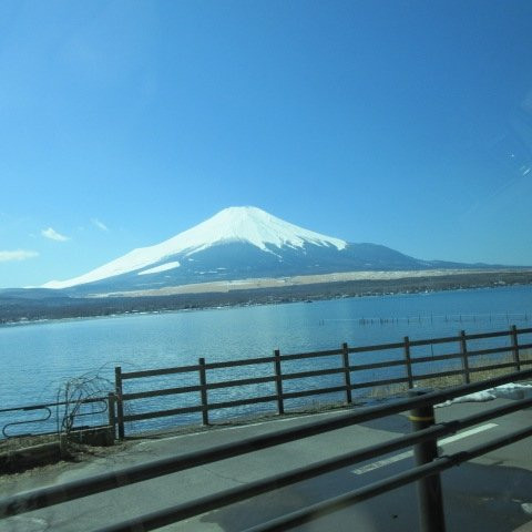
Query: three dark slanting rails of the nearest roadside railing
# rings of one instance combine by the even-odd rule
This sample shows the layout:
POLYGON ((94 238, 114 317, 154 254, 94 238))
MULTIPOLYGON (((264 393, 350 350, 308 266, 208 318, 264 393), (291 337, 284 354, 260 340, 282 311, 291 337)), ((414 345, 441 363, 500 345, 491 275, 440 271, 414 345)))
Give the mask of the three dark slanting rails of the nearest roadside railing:
MULTIPOLYGON (((454 399, 467 393, 481 391, 500 385, 521 379, 532 378, 532 369, 522 370, 516 374, 497 377, 482 382, 459 386, 443 391, 434 391, 419 397, 401 399, 389 405, 364 408, 340 415, 334 419, 326 419, 307 423, 303 427, 288 428, 272 432, 266 436, 253 437, 235 443, 217 446, 203 451, 188 452, 177 457, 156 460, 140 466, 122 469, 95 475, 90 479, 68 482, 61 485, 33 490, 30 492, 13 495, 0 501, 0 518, 8 518, 20 513, 29 512, 39 508, 47 508, 62 502, 71 501, 90 494, 121 488, 125 484, 146 481, 153 478, 175 473, 186 469, 195 468, 206 463, 215 462, 262 449, 278 446, 301 438, 308 438, 323 432, 349 427, 364 421, 396 415, 409 409, 420 407, 432 407, 446 400, 454 399)), ((133 520, 99 529, 100 532, 139 531, 154 530, 166 524, 174 523, 194 515, 198 515, 227 504, 243 501, 252 497, 276 490, 286 485, 311 479, 316 475, 338 470, 364 460, 374 459, 381 454, 403 449, 426 441, 436 441, 438 438, 457 432, 458 430, 481 423, 499 416, 515 412, 523 408, 532 407, 532 398, 523 399, 494 408, 484 412, 438 423, 427 429, 401 436, 386 442, 355 450, 339 457, 323 460, 307 467, 298 468, 288 472, 276 474, 259 481, 249 482, 242 487, 214 493, 197 500, 164 509, 150 514, 144 514, 133 520)), ((456 454, 436 458, 433 461, 419 466, 408 472, 390 477, 383 481, 367 485, 362 489, 346 493, 335 499, 320 502, 309 508, 301 509, 291 514, 278 518, 269 523, 255 526, 254 531, 287 530, 304 522, 323 516, 348 504, 366 500, 370 497, 390 491, 400 485, 413 482, 424 477, 434 475, 440 471, 471 460, 481 454, 490 452, 500 447, 532 436, 532 427, 507 434, 503 438, 494 439, 483 446, 470 448, 456 454)), ((428 529, 430 530, 430 529, 428 529)), ((443 530, 442 528, 438 530, 443 530)))

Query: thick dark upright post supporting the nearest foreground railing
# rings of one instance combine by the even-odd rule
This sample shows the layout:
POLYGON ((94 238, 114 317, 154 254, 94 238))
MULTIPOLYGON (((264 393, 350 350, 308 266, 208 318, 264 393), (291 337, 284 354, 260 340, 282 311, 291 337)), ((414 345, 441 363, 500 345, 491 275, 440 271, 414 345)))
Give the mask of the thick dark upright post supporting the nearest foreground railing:
MULTIPOLYGON (((427 389, 415 389, 410 390, 409 395, 417 397, 428 393, 429 391, 430 390, 427 389)), ((410 410, 410 421, 412 422, 412 429, 415 431, 423 430, 434 424, 434 409, 432 405, 423 405, 410 410)), ((413 456, 416 458, 416 466, 432 462, 432 460, 438 458, 436 439, 413 446, 413 456)), ((420 532, 446 532, 439 473, 418 480, 417 489, 420 532)))

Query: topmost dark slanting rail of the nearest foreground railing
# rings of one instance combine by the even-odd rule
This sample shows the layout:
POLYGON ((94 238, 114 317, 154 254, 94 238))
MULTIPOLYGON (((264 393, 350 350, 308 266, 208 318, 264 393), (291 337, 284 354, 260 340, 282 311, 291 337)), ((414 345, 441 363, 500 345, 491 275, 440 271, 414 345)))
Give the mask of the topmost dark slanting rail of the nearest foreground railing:
POLYGON ((287 443, 301 438, 308 438, 323 432, 350 427, 364 421, 400 413, 405 410, 413 409, 422 405, 437 405, 460 396, 526 378, 532 378, 532 369, 504 375, 482 382, 462 385, 448 390, 434 391, 424 396, 399 399, 389 405, 380 405, 377 407, 368 407, 357 411, 350 411, 334 419, 315 421, 303 427, 294 427, 265 436, 247 438, 235 443, 217 446, 202 451, 194 451, 177 457, 155 460, 153 462, 125 468, 120 471, 101 473, 90 479, 82 479, 61 485, 29 491, 1 500, 0 516, 16 515, 39 508, 51 507, 81 497, 120 488, 124 484, 124 479, 127 479, 127 483, 154 479, 197 466, 212 463, 217 460, 259 451, 280 443, 287 443))

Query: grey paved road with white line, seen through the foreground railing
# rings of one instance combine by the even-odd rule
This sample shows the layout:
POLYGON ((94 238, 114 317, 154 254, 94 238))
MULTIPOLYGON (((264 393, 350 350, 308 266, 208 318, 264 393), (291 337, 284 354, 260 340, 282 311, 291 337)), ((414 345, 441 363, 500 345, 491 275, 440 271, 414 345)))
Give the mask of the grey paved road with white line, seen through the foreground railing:
MULTIPOLYGON (((492 408, 510 399, 488 403, 459 403, 437 409, 437 420, 463 417, 492 408)), ((62 483, 94 473, 175 456, 213 444, 237 441, 278 428, 303 424, 329 412, 311 417, 284 418, 238 428, 214 429, 187 436, 141 441, 126 451, 73 467, 50 467, 35 475, 23 473, 0 482, 0 497, 18 491, 62 483)), ((456 452, 510 431, 530 426, 532 409, 483 423, 443 441, 443 452, 456 452)), ((196 497, 245 484, 266 475, 308 464, 349 449, 362 448, 410 431, 406 416, 371 421, 257 453, 224 460, 120 490, 91 495, 49 509, 0 521, 6 532, 78 532, 98 530, 104 524, 140 513, 185 502, 196 497)), ((403 471, 413 464, 411 453, 399 451, 321 475, 289 488, 253 498, 208 514, 161 529, 164 531, 238 531, 298 508, 345 493, 357 487, 403 471)), ((523 440, 442 474, 448 531, 511 532, 532 520, 532 442, 523 440)), ((323 518, 300 531, 405 531, 418 530, 415 485, 379 495, 349 510, 323 518)))

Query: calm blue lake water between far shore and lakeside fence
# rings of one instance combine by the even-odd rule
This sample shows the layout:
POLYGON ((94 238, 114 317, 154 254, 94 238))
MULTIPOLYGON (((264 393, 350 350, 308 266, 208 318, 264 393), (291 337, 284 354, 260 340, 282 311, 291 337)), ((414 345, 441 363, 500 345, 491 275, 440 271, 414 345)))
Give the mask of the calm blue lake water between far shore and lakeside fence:
MULTIPOLYGON (((532 327, 531 286, 4 326, 0 327, 0 408, 53 401, 68 379, 86 372, 112 380, 114 366, 133 371, 193 365, 200 357, 213 362, 270 356, 275 348, 282 354, 315 351, 339 348, 344 341, 382 344, 401 341, 407 335, 421 339, 454 336, 461 329, 505 330, 512 324, 532 327)), ((249 369, 245 371, 242 377, 249 376, 249 369)), ((165 400, 171 402, 163 408, 176 408, 175 397, 165 400)), ((153 421, 150 428, 164 422, 153 421)))

